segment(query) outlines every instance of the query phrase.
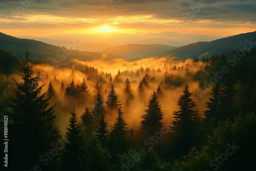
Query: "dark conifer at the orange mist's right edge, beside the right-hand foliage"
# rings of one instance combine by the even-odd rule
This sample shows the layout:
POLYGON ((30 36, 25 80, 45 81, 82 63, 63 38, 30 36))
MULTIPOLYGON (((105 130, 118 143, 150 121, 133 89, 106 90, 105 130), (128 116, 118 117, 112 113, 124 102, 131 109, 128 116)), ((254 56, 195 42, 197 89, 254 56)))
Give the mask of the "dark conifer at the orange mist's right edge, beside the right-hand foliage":
POLYGON ((208 108, 208 110, 204 111, 204 121, 214 121, 217 123, 217 119, 220 119, 222 91, 218 83, 211 91, 212 93, 210 93, 210 95, 212 95, 212 98, 209 98, 209 101, 206 102, 206 108, 208 108))

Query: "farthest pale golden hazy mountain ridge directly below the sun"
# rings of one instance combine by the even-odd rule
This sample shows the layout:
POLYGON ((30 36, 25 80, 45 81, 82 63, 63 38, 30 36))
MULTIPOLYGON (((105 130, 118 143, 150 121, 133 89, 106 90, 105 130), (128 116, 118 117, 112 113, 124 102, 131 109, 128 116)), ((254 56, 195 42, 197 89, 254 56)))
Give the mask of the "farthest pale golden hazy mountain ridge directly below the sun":
MULTIPOLYGON (((204 35, 204 34, 181 34, 177 32, 161 32, 161 33, 142 33, 125 34, 118 32, 110 33, 90 33, 90 34, 56 34, 47 36, 48 39, 63 39, 71 40, 79 35, 83 38, 84 44, 97 44, 103 42, 114 46, 129 45, 129 44, 163 44, 169 46, 180 47, 198 41, 211 41, 225 36, 220 35, 204 35), (150 39, 150 40, 148 40, 150 39), (166 41, 169 39, 169 41, 166 41), (163 41, 161 41, 163 40, 163 41)), ((54 41, 54 40, 53 40, 54 41)), ((84 48, 82 46, 78 48, 84 48)), ((106 47, 109 48, 109 47, 106 47)), ((106 49, 103 48, 103 49, 106 49)), ((103 50, 102 49, 102 50, 103 50)), ((83 50, 83 49, 79 49, 83 50)), ((90 50, 93 51, 93 50, 90 50)))

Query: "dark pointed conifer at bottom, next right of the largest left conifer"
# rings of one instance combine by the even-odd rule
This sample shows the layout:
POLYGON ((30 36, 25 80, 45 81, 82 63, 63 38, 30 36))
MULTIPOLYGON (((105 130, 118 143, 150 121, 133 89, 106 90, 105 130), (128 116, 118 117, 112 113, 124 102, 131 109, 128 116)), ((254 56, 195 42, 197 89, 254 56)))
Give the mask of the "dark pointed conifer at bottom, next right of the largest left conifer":
POLYGON ((82 162, 84 162, 84 147, 83 137, 81 135, 81 126, 77 123, 77 115, 74 111, 71 112, 69 124, 67 126, 66 137, 68 142, 63 149, 62 156, 62 170, 74 170, 79 171, 82 168, 82 162))

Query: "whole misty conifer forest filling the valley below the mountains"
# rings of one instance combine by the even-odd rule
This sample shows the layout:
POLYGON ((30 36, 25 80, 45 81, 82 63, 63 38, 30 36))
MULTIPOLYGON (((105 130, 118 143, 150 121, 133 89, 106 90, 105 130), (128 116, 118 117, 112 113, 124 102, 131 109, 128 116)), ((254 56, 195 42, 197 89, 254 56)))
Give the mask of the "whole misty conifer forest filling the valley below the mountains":
POLYGON ((99 71, 108 59, 52 67, 30 47, 20 57, 1 49, 8 168, 251 170, 256 48, 243 52, 117 59, 99 71))

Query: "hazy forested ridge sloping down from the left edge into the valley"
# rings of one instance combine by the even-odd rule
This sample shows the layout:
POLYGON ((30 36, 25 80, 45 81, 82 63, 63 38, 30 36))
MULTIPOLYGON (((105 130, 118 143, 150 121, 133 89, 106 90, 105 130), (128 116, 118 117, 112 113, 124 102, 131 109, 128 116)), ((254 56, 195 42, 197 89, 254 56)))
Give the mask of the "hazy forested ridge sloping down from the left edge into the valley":
MULTIPOLYGON (((62 63, 70 65, 70 63, 68 63, 70 59, 88 61, 103 57, 103 54, 98 52, 69 50, 65 47, 54 46, 37 40, 16 38, 1 32, 0 48, 11 51, 17 56, 24 55, 26 48, 29 48, 31 58, 42 59, 48 63, 59 61, 60 65, 62 63)), ((104 55, 104 58, 116 57, 115 55, 104 55)))

